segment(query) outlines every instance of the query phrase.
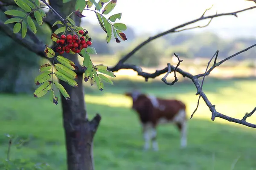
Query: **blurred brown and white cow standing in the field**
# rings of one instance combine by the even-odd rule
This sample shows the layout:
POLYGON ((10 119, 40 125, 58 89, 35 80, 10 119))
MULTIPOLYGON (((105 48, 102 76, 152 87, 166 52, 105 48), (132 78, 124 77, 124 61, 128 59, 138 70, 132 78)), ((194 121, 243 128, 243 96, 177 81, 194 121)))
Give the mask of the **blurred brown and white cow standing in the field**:
POLYGON ((157 125, 173 123, 180 130, 180 147, 187 145, 186 105, 176 99, 160 99, 155 96, 141 94, 139 91, 126 93, 133 101, 132 108, 138 113, 143 129, 144 149, 148 150, 150 142, 154 150, 158 150, 157 125), (151 132, 151 133, 150 133, 151 132))

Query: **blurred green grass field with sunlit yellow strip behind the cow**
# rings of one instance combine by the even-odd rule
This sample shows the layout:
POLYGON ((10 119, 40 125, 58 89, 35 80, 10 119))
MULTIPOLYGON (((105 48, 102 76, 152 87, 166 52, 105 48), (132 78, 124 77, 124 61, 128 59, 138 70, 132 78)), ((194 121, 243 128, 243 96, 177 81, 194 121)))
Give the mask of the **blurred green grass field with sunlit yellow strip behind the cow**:
MULTIPOLYGON (((255 84, 256 80, 212 80, 205 82, 204 92, 217 111, 241 119, 255 107, 255 84)), ((145 152, 131 100, 122 95, 125 88, 106 86, 104 91, 85 96, 89 117, 102 115, 94 142, 96 170, 256 170, 256 130, 224 120, 211 121, 203 101, 189 119, 186 149, 179 148, 176 127, 164 125, 158 128, 160 150, 145 152)), ((183 100, 188 116, 198 99, 192 83, 147 85, 143 91, 183 100)), ((47 162, 51 170, 65 170, 61 106, 53 105, 48 96, 36 99, 32 95, 1 94, 0 101, 0 157, 6 159, 8 139, 4 134, 9 133, 29 138, 20 149, 11 148, 11 159, 47 162)), ((256 115, 248 121, 256 123, 256 115)))

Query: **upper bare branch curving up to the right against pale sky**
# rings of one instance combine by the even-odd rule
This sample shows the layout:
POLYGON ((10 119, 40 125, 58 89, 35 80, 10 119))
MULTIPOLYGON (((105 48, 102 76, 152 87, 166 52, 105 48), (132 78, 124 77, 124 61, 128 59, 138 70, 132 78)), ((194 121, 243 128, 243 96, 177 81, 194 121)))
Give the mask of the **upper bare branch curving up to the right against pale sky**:
MULTIPOLYGON (((169 34, 169 33, 174 33, 179 28, 183 28, 183 27, 188 26, 190 24, 196 23, 196 22, 198 22, 200 20, 213 19, 215 17, 227 16, 227 15, 233 15, 233 16, 237 17, 238 13, 243 12, 243 11, 247 11, 247 10, 250 10, 250 9, 253 9, 253 8, 256 8, 256 6, 253 6, 253 7, 250 7, 250 8, 245 8, 245 9, 242 9, 242 10, 239 10, 239 11, 235 11, 235 12, 230 12, 230 13, 215 14, 215 15, 210 15, 208 17, 204 17, 204 16, 203 17, 199 17, 198 19, 189 21, 187 23, 183 23, 183 24, 181 24, 179 26, 176 26, 176 27, 174 27, 172 29, 169 29, 168 31, 162 32, 160 34, 157 34, 154 37, 149 37, 148 40, 145 40, 140 45, 138 45, 136 48, 134 48, 131 52, 126 54, 124 57, 122 57, 122 59, 120 59, 119 62, 113 68, 115 68, 117 65, 120 65, 120 64, 124 63, 128 58, 130 58, 136 51, 138 51, 140 48, 142 48, 148 42, 151 42, 152 40, 155 40, 155 39, 157 39, 159 37, 162 37, 163 35, 166 35, 166 34, 169 34)), ((198 27, 195 27, 195 28, 198 28, 198 27)))

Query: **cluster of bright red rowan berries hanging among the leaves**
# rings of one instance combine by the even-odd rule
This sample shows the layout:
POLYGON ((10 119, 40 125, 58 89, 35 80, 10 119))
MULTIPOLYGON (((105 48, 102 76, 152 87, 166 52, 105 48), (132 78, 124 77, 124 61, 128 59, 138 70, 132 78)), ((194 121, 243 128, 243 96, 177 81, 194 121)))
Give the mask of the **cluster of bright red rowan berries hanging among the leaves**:
POLYGON ((57 45, 55 51, 59 54, 64 54, 64 52, 69 53, 70 50, 74 53, 80 53, 83 48, 92 45, 91 38, 88 38, 88 41, 84 38, 87 33, 88 31, 84 32, 83 30, 80 30, 79 34, 82 35, 81 37, 78 37, 76 34, 73 36, 70 34, 67 36, 64 34, 61 35, 61 39, 56 41, 57 45))

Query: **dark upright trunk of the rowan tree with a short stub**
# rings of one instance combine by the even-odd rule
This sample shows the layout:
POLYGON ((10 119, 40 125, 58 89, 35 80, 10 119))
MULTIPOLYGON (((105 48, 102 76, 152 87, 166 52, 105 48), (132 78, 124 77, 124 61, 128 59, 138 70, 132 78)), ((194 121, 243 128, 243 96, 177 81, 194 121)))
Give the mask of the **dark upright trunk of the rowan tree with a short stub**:
MULTIPOLYGON (((63 3, 62 0, 49 0, 49 4, 63 18, 66 18, 75 9, 76 1, 63 3)), ((74 16, 74 15, 73 15, 74 16)), ((80 26, 80 18, 73 17, 76 26, 80 26)), ((53 23, 56 20, 53 19, 53 23)), ((65 54, 64 57, 75 62, 78 67, 77 55, 65 54)), ((93 137, 98 128, 101 117, 99 114, 89 121, 86 115, 83 74, 78 74, 78 88, 68 85, 60 80, 61 85, 70 95, 70 100, 66 100, 61 95, 61 105, 63 113, 63 126, 65 130, 67 149, 67 170, 94 170, 93 164, 93 137)))

